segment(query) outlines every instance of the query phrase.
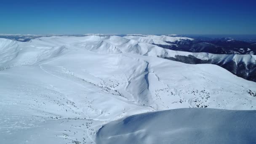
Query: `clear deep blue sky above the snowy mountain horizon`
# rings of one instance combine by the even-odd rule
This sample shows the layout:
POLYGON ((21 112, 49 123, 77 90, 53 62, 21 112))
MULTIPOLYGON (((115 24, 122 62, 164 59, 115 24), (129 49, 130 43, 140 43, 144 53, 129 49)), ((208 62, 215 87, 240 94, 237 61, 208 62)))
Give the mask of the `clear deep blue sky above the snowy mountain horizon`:
POLYGON ((5 34, 256 34, 256 0, 0 0, 5 34))

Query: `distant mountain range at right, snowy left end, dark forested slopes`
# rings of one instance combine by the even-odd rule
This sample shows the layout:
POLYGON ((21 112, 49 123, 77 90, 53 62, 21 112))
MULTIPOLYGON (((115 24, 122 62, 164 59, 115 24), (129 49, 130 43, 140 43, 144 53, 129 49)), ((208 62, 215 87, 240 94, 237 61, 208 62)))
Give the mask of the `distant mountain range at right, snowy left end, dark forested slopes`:
POLYGON ((174 51, 214 54, 255 54, 256 45, 252 40, 240 40, 231 37, 184 37, 181 35, 129 35, 129 39, 137 39, 162 48, 174 51), (132 36, 132 37, 131 37, 132 36), (168 37, 160 39, 159 37, 168 37), (173 38, 177 37, 177 38, 173 38), (152 39, 152 40, 150 40, 152 39), (155 42, 155 43, 154 43, 155 42))

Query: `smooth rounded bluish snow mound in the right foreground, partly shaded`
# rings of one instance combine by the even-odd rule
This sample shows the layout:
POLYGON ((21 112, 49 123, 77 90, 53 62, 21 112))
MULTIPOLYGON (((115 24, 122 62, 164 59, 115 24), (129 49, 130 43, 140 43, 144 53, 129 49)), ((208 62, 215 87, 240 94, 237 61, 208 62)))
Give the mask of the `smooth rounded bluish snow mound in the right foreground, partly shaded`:
POLYGON ((104 125, 97 144, 255 144, 256 111, 173 109, 104 125))

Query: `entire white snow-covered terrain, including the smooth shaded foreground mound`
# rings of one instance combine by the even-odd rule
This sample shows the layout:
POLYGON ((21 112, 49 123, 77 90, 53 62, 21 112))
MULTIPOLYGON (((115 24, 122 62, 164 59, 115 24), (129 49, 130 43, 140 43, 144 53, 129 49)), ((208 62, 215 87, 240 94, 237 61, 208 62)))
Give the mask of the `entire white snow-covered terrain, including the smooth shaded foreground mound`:
POLYGON ((255 82, 144 41, 0 38, 0 143, 256 143, 255 82))

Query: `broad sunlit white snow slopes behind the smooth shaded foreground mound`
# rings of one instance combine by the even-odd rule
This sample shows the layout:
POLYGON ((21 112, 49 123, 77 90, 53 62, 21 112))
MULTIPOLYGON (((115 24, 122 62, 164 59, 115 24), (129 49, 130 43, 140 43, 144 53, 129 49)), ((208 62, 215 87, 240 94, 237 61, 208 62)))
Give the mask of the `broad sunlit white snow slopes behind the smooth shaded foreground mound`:
POLYGON ((176 55, 191 53, 119 36, 0 39, 1 142, 95 143, 101 125, 144 112, 256 109, 256 83, 213 64, 163 59, 176 55))

